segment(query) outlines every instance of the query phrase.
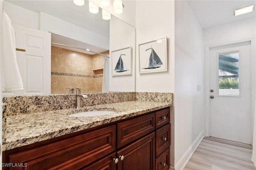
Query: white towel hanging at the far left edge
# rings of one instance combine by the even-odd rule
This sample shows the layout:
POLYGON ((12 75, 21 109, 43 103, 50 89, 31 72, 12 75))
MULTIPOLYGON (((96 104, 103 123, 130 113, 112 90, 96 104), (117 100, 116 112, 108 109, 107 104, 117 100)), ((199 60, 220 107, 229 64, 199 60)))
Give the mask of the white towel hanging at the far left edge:
POLYGON ((14 29, 11 20, 3 12, 3 41, 2 41, 2 86, 3 91, 23 90, 22 78, 16 59, 14 29))

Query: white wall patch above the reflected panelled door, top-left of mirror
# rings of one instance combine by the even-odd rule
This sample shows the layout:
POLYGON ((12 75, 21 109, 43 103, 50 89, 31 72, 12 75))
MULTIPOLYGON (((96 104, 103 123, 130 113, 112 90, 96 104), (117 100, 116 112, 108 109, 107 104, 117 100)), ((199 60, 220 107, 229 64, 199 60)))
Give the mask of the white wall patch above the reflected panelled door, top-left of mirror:
POLYGON ((40 15, 14 4, 4 1, 4 11, 9 16, 12 24, 39 29, 40 15))

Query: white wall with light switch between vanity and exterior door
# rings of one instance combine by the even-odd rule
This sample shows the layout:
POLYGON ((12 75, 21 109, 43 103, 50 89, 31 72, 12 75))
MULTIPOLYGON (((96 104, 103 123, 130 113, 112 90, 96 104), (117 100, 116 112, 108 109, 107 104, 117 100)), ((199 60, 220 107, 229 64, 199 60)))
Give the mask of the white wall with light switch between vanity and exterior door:
MULTIPOLYGON (((175 1, 175 164, 204 131, 204 44, 188 2, 175 1), (200 91, 197 86, 200 86, 200 91)), ((179 167, 180 167, 179 164, 179 167)), ((175 166, 175 167, 176 167, 175 166)), ((177 170, 180 170, 179 168, 177 170)))

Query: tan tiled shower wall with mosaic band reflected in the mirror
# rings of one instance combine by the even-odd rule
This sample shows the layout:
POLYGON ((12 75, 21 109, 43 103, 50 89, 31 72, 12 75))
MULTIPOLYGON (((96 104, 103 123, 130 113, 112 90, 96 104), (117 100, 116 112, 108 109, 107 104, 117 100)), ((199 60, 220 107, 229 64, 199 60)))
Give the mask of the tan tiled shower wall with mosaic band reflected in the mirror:
MULTIPOLYGON (((109 51, 103 54, 109 55, 109 51)), ((102 55, 88 55, 52 46, 51 59, 52 94, 68 94, 68 88, 82 88, 82 93, 101 92, 102 55)))

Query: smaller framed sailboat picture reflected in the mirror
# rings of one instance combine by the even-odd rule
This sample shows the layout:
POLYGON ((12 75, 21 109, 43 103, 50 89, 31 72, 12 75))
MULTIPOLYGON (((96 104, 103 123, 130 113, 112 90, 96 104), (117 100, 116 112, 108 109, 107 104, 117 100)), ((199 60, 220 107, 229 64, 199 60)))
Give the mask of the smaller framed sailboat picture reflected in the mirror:
POLYGON ((132 47, 112 51, 112 76, 132 74, 132 47))

